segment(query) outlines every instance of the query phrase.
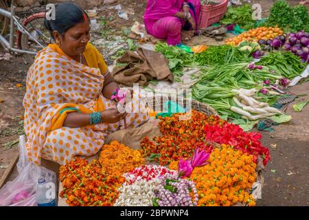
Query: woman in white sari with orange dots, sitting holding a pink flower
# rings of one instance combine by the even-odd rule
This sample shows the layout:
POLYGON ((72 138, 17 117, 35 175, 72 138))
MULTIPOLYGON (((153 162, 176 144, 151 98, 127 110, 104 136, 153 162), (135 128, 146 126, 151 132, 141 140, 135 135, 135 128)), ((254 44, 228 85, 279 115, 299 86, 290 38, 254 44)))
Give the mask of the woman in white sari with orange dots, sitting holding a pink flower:
MULTIPOLYGON (((27 155, 65 164, 75 155, 91 156, 104 137, 148 120, 148 113, 119 113, 111 96, 117 84, 102 55, 89 43, 86 12, 73 3, 56 5, 56 19, 45 20, 56 44, 38 52, 27 73, 25 133, 27 155)), ((136 103, 135 103, 136 104, 136 103)), ((145 107, 141 102, 139 107, 145 107)))

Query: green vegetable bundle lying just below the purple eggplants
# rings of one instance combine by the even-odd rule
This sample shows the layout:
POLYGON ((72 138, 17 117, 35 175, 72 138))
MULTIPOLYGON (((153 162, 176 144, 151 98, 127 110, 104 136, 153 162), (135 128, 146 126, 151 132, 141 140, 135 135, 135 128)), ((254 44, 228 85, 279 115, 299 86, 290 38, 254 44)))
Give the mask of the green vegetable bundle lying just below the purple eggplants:
POLYGON ((267 66, 286 78, 295 78, 306 69, 301 58, 291 52, 272 52, 262 56, 258 65, 267 66))

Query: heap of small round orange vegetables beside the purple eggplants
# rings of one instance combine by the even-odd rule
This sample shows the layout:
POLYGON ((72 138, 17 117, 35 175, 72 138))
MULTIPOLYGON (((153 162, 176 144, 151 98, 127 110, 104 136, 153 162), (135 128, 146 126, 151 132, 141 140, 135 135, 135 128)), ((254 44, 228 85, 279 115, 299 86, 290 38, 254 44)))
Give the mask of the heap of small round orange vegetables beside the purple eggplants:
POLYGON ((276 36, 283 34, 283 30, 280 28, 266 28, 260 27, 251 29, 248 32, 244 32, 238 36, 235 36, 231 39, 227 39, 225 43, 228 45, 238 45, 242 41, 249 41, 249 42, 258 42, 259 40, 268 40, 268 39, 275 39, 276 36))

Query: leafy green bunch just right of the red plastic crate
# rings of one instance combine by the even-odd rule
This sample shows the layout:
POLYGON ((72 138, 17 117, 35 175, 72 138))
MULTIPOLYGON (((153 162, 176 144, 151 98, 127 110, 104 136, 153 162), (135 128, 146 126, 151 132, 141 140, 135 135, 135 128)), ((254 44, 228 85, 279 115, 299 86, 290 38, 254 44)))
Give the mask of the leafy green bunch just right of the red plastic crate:
POLYGON ((237 23, 242 28, 249 30, 255 24, 255 21, 252 19, 252 14, 253 9, 249 4, 244 4, 240 7, 229 7, 220 23, 224 25, 237 23))

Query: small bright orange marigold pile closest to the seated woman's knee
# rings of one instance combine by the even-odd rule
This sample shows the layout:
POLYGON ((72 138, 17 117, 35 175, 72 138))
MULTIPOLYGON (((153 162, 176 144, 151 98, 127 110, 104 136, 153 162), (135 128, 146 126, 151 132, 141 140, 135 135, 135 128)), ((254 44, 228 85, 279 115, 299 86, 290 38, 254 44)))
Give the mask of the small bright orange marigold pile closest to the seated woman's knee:
POLYGON ((104 144, 99 162, 107 173, 122 175, 145 164, 145 159, 139 151, 113 141, 111 144, 104 144))

